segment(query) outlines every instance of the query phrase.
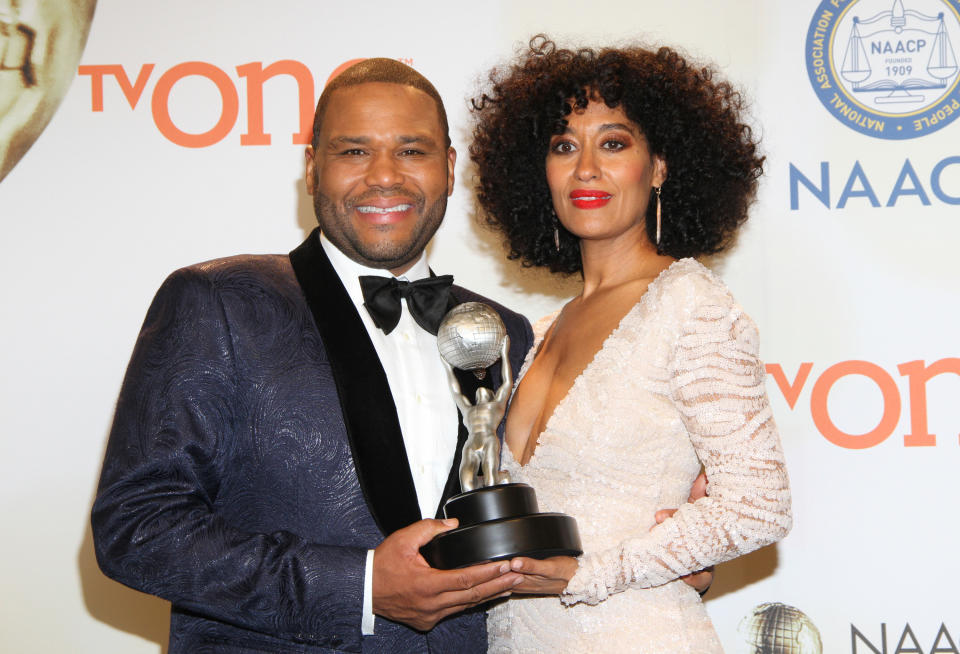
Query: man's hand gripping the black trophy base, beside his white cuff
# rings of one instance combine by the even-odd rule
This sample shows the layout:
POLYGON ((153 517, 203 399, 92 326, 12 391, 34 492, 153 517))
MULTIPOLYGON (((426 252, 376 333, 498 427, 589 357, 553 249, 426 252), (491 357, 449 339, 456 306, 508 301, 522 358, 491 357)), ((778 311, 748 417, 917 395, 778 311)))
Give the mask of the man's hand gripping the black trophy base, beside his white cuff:
POLYGON ((380 543, 373 555, 376 615, 427 631, 452 613, 506 597, 523 580, 506 561, 458 570, 431 568, 420 547, 456 526, 456 520, 420 520, 380 543))

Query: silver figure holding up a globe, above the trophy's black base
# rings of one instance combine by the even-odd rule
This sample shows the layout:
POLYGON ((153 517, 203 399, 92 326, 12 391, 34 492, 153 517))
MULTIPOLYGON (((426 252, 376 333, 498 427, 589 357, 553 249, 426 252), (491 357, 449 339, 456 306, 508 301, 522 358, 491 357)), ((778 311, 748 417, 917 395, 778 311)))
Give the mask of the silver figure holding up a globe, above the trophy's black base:
MULTIPOLYGON (((467 492, 477 488, 478 470, 483 471, 483 486, 509 483, 509 475, 500 470, 500 439, 497 437, 497 426, 503 420, 507 410, 507 399, 513 389, 513 372, 508 356, 510 337, 503 328, 500 316, 481 303, 461 304, 444 317, 438 331, 438 346, 441 352, 440 358, 447 369, 447 379, 453 399, 463 415, 463 424, 468 434, 460 459, 460 490, 467 492), (495 327, 491 325, 492 322, 497 323, 495 327), (495 335, 491 339, 492 333, 495 335), (500 346, 498 349, 503 380, 496 392, 480 387, 477 389, 476 401, 473 403, 461 392, 460 383, 453 374, 453 365, 447 361, 448 353, 453 349, 451 341, 454 340, 456 349, 461 354, 465 350, 485 350, 485 353, 478 355, 477 360, 489 361, 486 365, 496 361, 497 345, 500 346)), ((454 363, 458 362, 462 363, 462 359, 454 361, 454 363)), ((474 367, 479 367, 479 364, 471 365, 467 369, 474 367)))

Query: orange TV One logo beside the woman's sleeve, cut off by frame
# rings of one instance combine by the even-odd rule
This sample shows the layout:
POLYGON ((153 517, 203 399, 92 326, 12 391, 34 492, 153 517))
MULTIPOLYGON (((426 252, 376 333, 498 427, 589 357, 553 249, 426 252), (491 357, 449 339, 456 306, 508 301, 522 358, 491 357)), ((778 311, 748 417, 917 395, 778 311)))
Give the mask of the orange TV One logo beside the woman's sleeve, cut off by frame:
POLYGON ((960 376, 960 358, 940 359, 930 364, 922 360, 899 364, 897 373, 907 381, 905 395, 901 394, 893 375, 869 361, 841 361, 819 373, 812 382, 813 363, 810 362, 800 364, 792 379, 778 363, 767 364, 766 369, 791 409, 796 407, 801 393, 810 388, 813 423, 820 434, 834 445, 860 450, 883 443, 896 430, 903 405, 906 404, 910 412, 910 431, 904 434, 903 445, 932 447, 937 444, 937 436, 930 433, 928 426, 927 385, 941 375, 960 376), (844 431, 830 414, 831 391, 838 382, 848 377, 861 378, 857 379, 860 383, 864 383, 865 378, 865 383, 872 384, 882 397, 878 415, 870 419, 875 426, 865 433, 844 431))

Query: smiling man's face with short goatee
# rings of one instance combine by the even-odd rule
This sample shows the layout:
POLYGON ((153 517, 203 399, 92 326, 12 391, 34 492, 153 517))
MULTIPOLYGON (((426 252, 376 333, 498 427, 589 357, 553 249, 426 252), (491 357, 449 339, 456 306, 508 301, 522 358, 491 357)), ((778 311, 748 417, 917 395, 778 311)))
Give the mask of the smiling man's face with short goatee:
POLYGON ((429 95, 369 82, 333 92, 307 191, 320 229, 354 261, 394 274, 412 265, 440 227, 456 152, 429 95))

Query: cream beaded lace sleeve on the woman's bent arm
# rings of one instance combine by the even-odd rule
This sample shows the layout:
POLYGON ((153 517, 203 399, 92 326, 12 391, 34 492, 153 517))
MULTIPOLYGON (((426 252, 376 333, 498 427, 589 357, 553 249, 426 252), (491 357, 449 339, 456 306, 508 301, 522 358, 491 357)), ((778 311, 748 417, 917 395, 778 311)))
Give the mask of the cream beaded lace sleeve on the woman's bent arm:
MULTIPOLYGON (((704 288, 686 290, 696 295, 704 288)), ((597 604, 627 588, 659 586, 790 530, 790 489, 753 321, 725 289, 678 314, 670 399, 704 465, 709 496, 679 507, 649 532, 581 556, 561 596, 566 604, 597 604)))

